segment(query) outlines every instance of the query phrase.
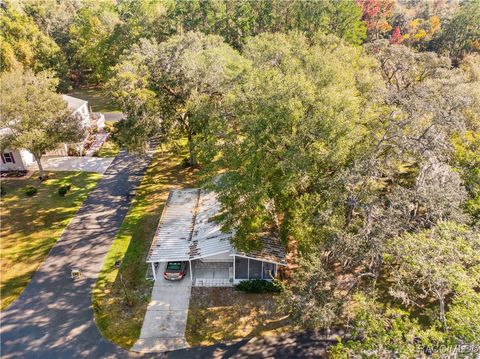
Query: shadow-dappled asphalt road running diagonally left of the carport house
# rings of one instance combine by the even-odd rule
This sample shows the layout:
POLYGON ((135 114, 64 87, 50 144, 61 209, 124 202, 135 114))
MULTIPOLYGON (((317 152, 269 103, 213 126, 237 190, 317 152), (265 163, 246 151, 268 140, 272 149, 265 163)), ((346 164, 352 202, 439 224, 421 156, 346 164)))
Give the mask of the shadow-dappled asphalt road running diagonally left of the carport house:
POLYGON ((91 290, 128 211, 126 193, 148 159, 121 153, 105 172, 22 295, 1 313, 2 358, 124 358, 94 321, 91 290), (83 278, 73 282, 71 268, 83 278))

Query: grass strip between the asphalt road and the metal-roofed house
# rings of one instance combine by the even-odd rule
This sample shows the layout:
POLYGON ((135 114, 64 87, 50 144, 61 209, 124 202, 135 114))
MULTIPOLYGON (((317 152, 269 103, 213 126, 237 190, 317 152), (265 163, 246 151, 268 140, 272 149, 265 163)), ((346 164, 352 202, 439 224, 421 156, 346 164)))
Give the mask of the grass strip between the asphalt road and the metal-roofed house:
POLYGON ((153 282, 145 279, 145 258, 168 192, 195 185, 195 171, 181 165, 185 156, 186 153, 157 152, 106 255, 93 290, 98 328, 106 338, 127 349, 140 335, 150 301, 153 282), (117 260, 122 263, 120 270, 131 303, 127 303, 122 289, 119 269, 115 266, 117 260))

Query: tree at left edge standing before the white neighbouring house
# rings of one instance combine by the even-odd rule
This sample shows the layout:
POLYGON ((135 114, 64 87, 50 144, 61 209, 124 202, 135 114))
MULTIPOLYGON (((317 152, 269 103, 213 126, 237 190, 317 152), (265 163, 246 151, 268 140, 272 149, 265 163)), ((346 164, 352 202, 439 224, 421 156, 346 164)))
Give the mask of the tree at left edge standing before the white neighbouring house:
POLYGON ((55 92, 58 80, 49 72, 14 70, 0 75, 2 147, 26 149, 45 177, 41 158, 60 143, 75 143, 84 135, 82 120, 73 116, 55 92))

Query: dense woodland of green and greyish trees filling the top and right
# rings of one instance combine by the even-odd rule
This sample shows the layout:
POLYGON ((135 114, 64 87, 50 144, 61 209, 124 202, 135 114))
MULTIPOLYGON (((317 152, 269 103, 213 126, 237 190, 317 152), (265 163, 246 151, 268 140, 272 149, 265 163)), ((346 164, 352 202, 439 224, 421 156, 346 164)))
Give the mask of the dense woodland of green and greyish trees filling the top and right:
POLYGON ((361 339, 333 356, 480 344, 479 0, 10 0, 0 29, 2 82, 102 86, 130 151, 187 138, 237 248, 287 246, 285 311, 361 339))

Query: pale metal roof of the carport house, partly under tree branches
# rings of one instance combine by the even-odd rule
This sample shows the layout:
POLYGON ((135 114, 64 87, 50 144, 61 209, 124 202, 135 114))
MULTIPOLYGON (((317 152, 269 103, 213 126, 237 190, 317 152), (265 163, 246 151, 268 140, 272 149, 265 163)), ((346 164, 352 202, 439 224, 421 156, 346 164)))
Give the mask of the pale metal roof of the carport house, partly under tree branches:
POLYGON ((237 252, 225 233, 213 220, 220 211, 215 192, 182 189, 170 192, 147 262, 187 261, 221 253, 286 264, 285 252, 274 237, 262 237, 262 249, 237 252))

